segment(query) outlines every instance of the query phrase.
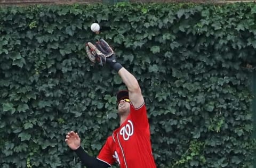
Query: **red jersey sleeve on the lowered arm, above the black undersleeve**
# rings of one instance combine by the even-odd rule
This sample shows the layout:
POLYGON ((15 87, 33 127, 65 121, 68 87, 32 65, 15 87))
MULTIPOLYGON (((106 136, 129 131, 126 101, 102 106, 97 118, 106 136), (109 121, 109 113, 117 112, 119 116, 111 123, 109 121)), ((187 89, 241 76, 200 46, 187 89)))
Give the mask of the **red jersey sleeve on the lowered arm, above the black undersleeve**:
POLYGON ((100 153, 97 157, 97 159, 107 163, 110 166, 115 163, 113 152, 111 150, 111 140, 112 140, 111 137, 108 137, 105 145, 101 148, 100 153))

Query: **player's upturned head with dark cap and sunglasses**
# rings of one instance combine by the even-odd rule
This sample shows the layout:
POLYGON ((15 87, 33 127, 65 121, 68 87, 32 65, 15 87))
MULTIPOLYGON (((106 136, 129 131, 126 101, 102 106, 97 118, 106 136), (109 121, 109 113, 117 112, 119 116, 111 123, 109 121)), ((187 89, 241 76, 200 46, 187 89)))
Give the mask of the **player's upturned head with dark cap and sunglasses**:
POLYGON ((117 95, 117 111, 119 115, 130 113, 130 99, 128 90, 120 90, 117 95))

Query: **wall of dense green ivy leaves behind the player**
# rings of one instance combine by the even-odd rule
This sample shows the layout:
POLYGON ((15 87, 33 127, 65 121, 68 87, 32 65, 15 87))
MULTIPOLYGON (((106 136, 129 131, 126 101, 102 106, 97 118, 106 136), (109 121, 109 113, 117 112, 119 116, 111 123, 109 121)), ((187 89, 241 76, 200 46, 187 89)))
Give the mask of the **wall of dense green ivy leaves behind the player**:
POLYGON ((86 57, 100 37, 139 80, 157 167, 249 167, 255 18, 255 3, 1 7, 1 167, 81 167, 70 130, 97 156, 125 88, 86 57))

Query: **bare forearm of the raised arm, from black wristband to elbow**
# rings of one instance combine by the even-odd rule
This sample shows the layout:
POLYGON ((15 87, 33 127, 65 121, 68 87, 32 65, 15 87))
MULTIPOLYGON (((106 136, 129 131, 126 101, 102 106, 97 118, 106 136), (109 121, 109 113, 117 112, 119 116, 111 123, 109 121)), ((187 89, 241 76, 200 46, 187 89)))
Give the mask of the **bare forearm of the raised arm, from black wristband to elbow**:
POLYGON ((131 74, 125 68, 121 68, 118 71, 118 74, 122 78, 124 84, 126 85, 130 93, 140 93, 139 83, 133 74, 131 74))

